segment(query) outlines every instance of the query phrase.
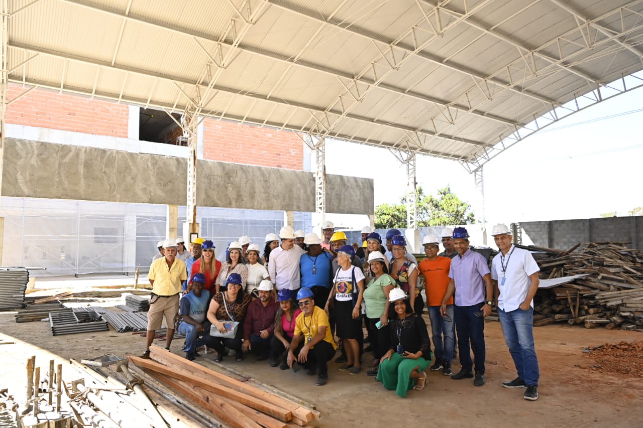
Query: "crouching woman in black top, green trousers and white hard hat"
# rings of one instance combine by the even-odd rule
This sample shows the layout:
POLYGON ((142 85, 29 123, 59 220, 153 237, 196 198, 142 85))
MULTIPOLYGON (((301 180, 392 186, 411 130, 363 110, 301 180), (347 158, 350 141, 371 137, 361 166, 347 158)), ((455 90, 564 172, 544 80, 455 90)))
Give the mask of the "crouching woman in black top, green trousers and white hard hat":
POLYGON ((406 397, 410 389, 424 389, 424 370, 431 361, 431 342, 422 316, 413 313, 402 289, 388 294, 390 348, 379 361, 377 380, 384 388, 406 397))

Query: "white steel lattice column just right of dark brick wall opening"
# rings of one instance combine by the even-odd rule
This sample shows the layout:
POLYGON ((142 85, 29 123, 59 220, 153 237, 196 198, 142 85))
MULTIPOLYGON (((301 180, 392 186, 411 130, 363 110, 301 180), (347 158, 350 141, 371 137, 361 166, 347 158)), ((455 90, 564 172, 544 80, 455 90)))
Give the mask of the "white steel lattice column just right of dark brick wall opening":
POLYGON ((197 127, 199 116, 195 114, 194 107, 190 106, 183 111, 181 128, 183 136, 188 139, 188 192, 186 202, 186 222, 183 225, 183 238, 189 247, 192 238, 199 234, 197 223, 197 127), (194 235, 196 234, 196 235, 194 235))

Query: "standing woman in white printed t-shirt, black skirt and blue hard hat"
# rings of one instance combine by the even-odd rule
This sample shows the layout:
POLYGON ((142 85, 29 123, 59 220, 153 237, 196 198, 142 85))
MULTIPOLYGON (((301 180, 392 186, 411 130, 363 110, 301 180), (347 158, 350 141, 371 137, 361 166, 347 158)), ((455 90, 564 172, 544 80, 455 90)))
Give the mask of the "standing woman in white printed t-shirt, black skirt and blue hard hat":
POLYGON ((358 375, 361 372, 359 341, 363 335, 361 304, 364 299, 364 274, 352 264, 355 249, 351 245, 343 245, 336 253, 339 269, 335 272, 334 285, 324 309, 328 313, 331 302, 334 303, 337 336, 343 340, 347 357, 346 364, 340 370, 350 370, 350 375, 358 375))

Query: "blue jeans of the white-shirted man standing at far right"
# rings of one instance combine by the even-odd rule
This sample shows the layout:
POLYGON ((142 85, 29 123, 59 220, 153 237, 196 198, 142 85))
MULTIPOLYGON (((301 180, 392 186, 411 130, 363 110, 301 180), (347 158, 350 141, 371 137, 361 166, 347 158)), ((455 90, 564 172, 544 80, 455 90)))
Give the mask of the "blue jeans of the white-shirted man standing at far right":
POLYGON ((518 377, 527 385, 538 386, 538 358, 534 346, 534 308, 505 312, 498 308, 502 334, 509 347, 518 377))

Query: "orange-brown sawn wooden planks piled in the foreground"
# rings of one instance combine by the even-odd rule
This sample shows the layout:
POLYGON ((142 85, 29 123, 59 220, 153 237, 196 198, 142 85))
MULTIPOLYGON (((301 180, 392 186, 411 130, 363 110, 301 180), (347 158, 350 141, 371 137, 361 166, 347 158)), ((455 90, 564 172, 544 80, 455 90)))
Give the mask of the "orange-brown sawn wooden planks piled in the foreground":
POLYGON ((307 426, 319 418, 313 409, 167 352, 150 348, 151 359, 127 357, 180 397, 207 409, 231 427, 307 426))

